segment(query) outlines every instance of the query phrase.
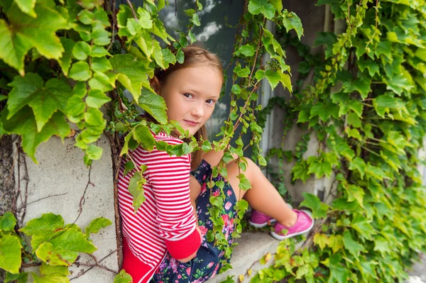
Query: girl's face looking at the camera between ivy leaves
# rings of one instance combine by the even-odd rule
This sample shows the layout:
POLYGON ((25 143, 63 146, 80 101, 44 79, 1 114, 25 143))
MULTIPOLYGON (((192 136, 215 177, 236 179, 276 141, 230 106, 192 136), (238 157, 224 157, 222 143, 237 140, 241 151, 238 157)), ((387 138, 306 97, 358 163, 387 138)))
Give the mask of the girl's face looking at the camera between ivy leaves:
POLYGON ((207 66, 193 66, 176 70, 160 86, 154 79, 157 93, 167 105, 169 121, 178 121, 190 135, 194 135, 212 116, 214 105, 222 89, 222 76, 207 66))

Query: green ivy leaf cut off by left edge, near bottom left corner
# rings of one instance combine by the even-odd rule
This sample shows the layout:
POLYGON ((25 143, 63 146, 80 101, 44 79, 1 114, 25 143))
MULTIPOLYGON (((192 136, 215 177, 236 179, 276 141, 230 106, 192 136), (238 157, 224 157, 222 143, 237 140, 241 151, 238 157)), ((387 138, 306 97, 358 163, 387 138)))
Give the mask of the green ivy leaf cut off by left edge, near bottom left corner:
POLYGON ((18 237, 4 235, 0 238, 0 268, 11 273, 19 273, 21 268, 21 248, 18 237))

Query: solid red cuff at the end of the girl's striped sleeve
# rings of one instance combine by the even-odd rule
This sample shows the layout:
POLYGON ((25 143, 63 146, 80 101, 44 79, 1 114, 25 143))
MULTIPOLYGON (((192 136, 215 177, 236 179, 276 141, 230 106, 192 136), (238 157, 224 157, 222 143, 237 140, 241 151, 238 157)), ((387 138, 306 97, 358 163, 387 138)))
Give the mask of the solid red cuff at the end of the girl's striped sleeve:
POLYGON ((180 240, 165 240, 165 246, 170 255, 176 260, 182 260, 186 257, 190 257, 201 245, 200 233, 197 229, 194 229, 190 235, 180 240))

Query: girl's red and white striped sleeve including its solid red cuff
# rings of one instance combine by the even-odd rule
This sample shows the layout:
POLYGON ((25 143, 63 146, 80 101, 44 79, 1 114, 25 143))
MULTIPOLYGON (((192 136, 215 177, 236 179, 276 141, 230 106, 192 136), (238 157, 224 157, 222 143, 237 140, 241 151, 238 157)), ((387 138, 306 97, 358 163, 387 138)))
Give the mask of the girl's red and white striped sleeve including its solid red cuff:
POLYGON ((153 150, 146 157, 160 236, 172 257, 189 257, 201 245, 190 201, 190 157, 170 156, 160 150, 153 150))

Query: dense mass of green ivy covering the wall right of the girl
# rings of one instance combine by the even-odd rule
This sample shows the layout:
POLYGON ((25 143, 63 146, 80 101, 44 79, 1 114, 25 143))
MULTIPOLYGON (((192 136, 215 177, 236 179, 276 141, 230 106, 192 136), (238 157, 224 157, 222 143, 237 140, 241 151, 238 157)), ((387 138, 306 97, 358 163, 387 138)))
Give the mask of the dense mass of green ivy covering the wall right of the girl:
POLYGON ((313 233, 298 250, 294 240, 280 243, 275 264, 251 282, 402 282, 426 250, 417 171, 426 129, 425 1, 317 4, 328 4, 346 30, 318 34, 322 60, 297 38, 278 35, 305 58, 299 72, 315 73, 283 107, 321 143, 317 155, 297 160, 293 180, 335 176, 334 199, 304 194, 302 206, 317 218, 313 233))

